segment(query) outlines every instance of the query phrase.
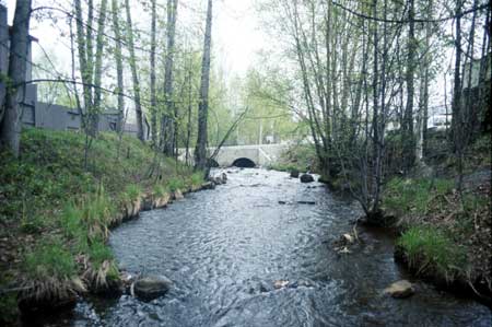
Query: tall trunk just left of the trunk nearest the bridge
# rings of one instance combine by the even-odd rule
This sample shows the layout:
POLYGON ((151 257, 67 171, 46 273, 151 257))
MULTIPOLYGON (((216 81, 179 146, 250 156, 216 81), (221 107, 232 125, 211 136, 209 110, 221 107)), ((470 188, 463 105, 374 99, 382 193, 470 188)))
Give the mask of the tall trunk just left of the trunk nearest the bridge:
POLYGON ((174 137, 176 129, 176 106, 174 104, 174 52, 175 52, 175 35, 176 35, 176 16, 177 16, 178 0, 167 0, 167 52, 164 72, 164 96, 165 96, 165 112, 162 116, 164 124, 162 141, 163 150, 166 155, 174 154, 174 137))

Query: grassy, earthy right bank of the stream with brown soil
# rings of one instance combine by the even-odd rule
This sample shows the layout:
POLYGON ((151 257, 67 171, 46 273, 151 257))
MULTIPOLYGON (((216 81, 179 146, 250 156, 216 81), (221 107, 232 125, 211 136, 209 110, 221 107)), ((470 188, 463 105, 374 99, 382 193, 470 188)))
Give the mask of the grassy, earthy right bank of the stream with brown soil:
MULTIPOLYGON (((490 143, 479 140, 467 156, 461 191, 453 163, 442 177, 393 178, 383 208, 402 231, 396 257, 417 275, 442 285, 464 285, 492 295, 490 143)), ((473 290, 475 289, 475 290, 473 290)))

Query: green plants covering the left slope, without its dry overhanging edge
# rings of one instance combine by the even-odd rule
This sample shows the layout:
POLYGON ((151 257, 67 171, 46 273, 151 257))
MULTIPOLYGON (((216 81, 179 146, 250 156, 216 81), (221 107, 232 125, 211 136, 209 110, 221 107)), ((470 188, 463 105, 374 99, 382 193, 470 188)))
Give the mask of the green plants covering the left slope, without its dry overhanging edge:
MULTIPOLYGON (((166 184, 144 178, 149 167, 168 176, 174 189, 183 188, 185 180, 198 180, 189 167, 173 159, 156 161, 155 152, 132 137, 124 136, 119 142, 115 133, 101 133, 92 141, 86 166, 84 147, 82 133, 24 128, 20 157, 0 153, 0 220, 13 226, 9 234, 34 235, 34 244, 21 244, 25 246, 19 252, 21 264, 9 268, 22 280, 48 280, 40 288, 46 291, 43 294, 71 287, 68 279, 82 272, 75 262, 78 255, 89 257, 93 268, 104 270, 107 278, 118 279, 105 244, 108 226, 122 209, 118 203, 125 197, 137 199, 147 189, 162 195, 168 191, 166 184), (101 267, 105 261, 109 267, 101 267)), ((0 237, 5 232, 0 229, 0 237)), ((10 283, 2 277, 0 273, 0 288, 10 283)), ((14 297, 0 300, 0 322, 7 319, 7 310, 15 315, 14 297)))

